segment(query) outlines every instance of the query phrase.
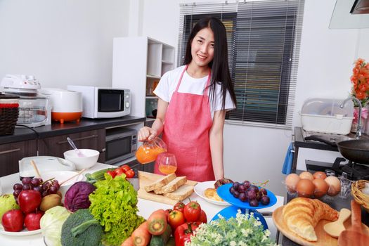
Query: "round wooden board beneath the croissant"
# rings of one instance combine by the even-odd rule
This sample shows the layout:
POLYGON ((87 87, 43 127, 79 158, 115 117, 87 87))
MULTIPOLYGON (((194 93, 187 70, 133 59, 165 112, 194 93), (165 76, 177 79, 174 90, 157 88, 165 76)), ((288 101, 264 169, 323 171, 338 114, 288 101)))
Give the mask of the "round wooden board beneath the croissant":
MULTIPOLYGON (((278 230, 283 233, 287 238, 290 240, 297 242, 299 245, 306 245, 306 246, 316 246, 316 245, 324 245, 324 246, 330 246, 330 245, 337 245, 337 238, 333 238, 328 233, 325 233, 323 226, 331 221, 328 221, 326 219, 322 219, 319 221, 318 225, 315 227, 315 233, 316 237, 318 238, 318 241, 316 242, 309 242, 308 240, 305 240, 304 238, 301 238, 296 233, 293 233, 290 231, 290 229, 287 227, 287 224, 285 224, 285 221, 283 220, 283 207, 278 207, 278 209, 274 210, 273 212, 273 222, 278 228, 278 230)), ((351 217, 347 219, 344 222, 344 227, 346 229, 351 228, 351 217)), ((365 226, 365 224, 362 224, 363 227, 363 233, 369 235, 369 228, 368 226, 365 226)))

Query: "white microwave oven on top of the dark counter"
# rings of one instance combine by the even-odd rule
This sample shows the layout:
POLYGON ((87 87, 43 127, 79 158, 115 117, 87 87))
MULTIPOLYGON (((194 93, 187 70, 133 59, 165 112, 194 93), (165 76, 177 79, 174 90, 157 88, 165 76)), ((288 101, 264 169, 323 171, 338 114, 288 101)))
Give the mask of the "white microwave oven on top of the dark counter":
POLYGON ((67 86, 69 91, 82 94, 83 112, 86 118, 115 118, 131 112, 131 91, 96 86, 67 86))

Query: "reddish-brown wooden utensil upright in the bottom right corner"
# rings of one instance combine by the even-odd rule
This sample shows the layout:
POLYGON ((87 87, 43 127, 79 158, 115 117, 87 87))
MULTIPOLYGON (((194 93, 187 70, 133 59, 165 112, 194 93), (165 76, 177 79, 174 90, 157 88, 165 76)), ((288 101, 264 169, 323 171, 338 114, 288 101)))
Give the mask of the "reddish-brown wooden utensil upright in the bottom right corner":
POLYGON ((360 205, 351 200, 351 229, 342 231, 338 238, 339 246, 365 246, 368 245, 369 236, 363 233, 361 228, 361 209, 360 205))

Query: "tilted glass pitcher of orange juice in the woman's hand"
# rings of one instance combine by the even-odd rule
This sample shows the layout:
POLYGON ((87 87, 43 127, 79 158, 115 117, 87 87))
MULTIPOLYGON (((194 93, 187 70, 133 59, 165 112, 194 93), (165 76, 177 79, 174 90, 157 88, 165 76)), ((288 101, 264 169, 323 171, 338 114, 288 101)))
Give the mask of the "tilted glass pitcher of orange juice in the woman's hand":
POLYGON ((136 151, 136 159, 141 164, 155 162, 157 155, 167 152, 167 144, 161 138, 154 138, 153 141, 144 141, 136 151))

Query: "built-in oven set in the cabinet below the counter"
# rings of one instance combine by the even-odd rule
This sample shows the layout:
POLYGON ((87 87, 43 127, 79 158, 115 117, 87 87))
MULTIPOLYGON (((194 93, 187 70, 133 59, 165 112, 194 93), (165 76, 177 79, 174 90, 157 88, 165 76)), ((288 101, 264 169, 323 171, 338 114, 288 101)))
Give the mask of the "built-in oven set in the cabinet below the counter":
POLYGON ((133 157, 137 150, 137 130, 115 127, 105 131, 105 164, 133 157))

